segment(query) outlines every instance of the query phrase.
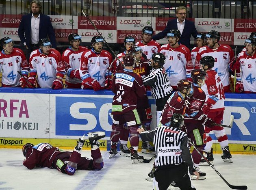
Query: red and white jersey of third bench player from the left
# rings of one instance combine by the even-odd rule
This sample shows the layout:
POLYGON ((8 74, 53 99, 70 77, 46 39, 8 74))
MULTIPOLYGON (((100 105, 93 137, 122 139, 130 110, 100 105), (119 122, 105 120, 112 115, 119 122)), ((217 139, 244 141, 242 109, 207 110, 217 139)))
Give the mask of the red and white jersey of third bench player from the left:
MULTIPOLYGON (((70 46, 63 52, 62 60, 69 63, 72 69, 79 69, 82 53, 87 50, 88 50, 87 48, 83 46, 79 46, 78 51, 75 52, 71 49, 71 46, 70 46)), ((78 84, 82 82, 82 80, 78 78, 70 78, 67 75, 66 75, 66 81, 72 84, 78 84)))

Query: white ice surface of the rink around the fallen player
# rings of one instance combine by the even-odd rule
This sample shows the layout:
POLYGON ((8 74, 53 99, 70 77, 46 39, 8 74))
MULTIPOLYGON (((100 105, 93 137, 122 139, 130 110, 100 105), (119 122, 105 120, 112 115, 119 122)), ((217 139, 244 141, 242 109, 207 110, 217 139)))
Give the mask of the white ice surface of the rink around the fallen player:
MULTIPOLYGON (((72 150, 69 150, 72 151, 72 150)), ((131 164, 130 158, 121 156, 109 159, 108 151, 101 151, 104 167, 100 171, 76 171, 69 176, 49 168, 28 170, 22 164, 21 149, 0 149, 0 190, 150 190, 152 182, 145 177, 151 171, 153 160, 131 164)), ((90 157, 88 150, 82 156, 90 157)), ((152 155, 141 153, 149 159, 152 155)), ((221 154, 214 154, 215 168, 231 185, 246 185, 256 189, 256 155, 233 154, 233 163, 223 162, 221 154)), ((201 166, 205 180, 193 180, 197 190, 228 190, 228 185, 210 166, 201 166)))

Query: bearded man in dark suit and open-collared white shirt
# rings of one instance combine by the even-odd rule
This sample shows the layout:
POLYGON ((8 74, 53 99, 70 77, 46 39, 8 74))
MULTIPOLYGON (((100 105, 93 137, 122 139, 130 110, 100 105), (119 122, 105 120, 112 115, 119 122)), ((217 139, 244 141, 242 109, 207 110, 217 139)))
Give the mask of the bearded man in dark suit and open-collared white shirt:
POLYGON ((39 49, 38 42, 44 38, 50 38, 52 48, 56 48, 55 33, 50 17, 41 13, 42 5, 39 0, 30 3, 30 14, 23 15, 20 22, 18 35, 26 47, 26 58, 29 60, 30 53, 39 49))

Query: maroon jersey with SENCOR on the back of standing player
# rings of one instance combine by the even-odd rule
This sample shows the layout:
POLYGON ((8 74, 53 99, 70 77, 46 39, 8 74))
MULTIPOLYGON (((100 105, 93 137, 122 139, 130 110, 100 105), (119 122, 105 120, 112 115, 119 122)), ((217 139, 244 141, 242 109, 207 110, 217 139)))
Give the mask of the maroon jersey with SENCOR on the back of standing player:
POLYGON ((112 114, 122 114, 137 108, 137 96, 146 93, 141 76, 132 70, 119 70, 113 78, 111 91, 115 94, 112 103, 112 114))

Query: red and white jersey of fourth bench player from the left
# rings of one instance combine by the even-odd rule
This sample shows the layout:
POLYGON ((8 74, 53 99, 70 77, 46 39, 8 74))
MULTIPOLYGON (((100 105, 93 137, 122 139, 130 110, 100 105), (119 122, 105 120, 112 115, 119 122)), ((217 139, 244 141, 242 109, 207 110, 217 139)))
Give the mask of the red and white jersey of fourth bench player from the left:
MULTIPOLYGON (((112 75, 111 72, 108 73, 108 67, 111 62, 111 54, 106 50, 102 50, 100 54, 96 54, 93 50, 83 52, 79 68, 81 79, 85 80, 89 77, 96 79, 100 86, 104 87, 106 76, 112 75)), ((88 82, 85 82, 85 84, 88 84, 88 82)))

